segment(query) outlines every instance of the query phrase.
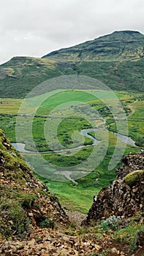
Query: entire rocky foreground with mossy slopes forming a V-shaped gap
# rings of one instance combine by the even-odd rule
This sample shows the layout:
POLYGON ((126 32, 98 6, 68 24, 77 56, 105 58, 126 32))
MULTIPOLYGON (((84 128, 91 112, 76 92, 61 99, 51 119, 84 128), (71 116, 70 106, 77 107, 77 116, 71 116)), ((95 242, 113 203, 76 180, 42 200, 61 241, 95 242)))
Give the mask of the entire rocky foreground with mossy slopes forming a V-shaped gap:
POLYGON ((66 214, 0 131, 0 255, 143 256, 143 159, 143 152, 124 158, 83 221, 83 214, 66 214), (102 222, 121 215, 116 228, 102 222))

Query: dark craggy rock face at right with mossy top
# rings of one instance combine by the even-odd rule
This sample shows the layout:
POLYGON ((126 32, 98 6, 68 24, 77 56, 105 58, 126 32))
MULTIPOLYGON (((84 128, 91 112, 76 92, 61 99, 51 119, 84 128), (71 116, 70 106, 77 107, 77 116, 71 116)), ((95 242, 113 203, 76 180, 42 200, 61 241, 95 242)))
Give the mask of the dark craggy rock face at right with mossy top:
POLYGON ((113 184, 104 187, 94 197, 86 224, 91 220, 115 216, 132 217, 141 214, 144 201, 144 153, 124 157, 124 165, 117 170, 113 184))

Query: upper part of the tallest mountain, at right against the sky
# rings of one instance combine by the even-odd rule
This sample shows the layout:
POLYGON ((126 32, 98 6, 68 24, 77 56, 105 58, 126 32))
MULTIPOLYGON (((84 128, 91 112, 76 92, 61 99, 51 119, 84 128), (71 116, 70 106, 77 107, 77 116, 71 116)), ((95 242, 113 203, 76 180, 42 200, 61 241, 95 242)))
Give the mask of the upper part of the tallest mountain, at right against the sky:
POLYGON ((137 61, 143 58, 144 35, 115 31, 71 48, 53 51, 43 58, 59 61, 137 61))

